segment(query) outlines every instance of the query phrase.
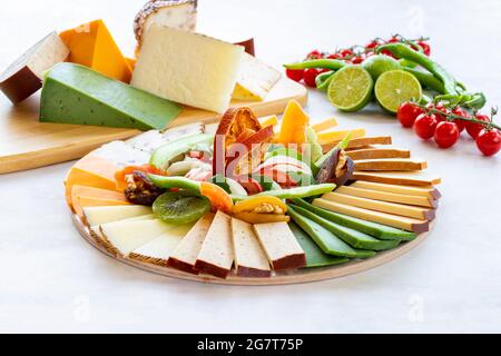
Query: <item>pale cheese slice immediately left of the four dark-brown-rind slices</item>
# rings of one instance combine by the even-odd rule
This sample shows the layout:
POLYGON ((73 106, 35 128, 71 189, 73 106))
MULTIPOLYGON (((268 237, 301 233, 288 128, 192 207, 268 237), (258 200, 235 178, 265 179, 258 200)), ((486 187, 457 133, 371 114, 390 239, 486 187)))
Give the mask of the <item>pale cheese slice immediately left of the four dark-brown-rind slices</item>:
POLYGON ((177 226, 148 244, 130 253, 129 258, 144 263, 167 266, 170 254, 179 245, 193 225, 177 226))

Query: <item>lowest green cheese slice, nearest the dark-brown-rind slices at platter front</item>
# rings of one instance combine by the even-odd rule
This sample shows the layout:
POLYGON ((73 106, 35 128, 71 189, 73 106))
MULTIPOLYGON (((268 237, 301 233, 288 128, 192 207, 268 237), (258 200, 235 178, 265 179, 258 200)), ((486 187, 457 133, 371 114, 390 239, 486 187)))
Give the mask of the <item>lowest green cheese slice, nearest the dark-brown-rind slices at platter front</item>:
POLYGON ((288 227, 293 231, 297 243, 299 243, 306 255, 307 268, 333 266, 350 261, 350 258, 346 257, 335 257, 324 254, 322 249, 320 249, 320 247, 315 244, 315 241, 312 240, 312 238, 295 222, 289 222, 288 227))

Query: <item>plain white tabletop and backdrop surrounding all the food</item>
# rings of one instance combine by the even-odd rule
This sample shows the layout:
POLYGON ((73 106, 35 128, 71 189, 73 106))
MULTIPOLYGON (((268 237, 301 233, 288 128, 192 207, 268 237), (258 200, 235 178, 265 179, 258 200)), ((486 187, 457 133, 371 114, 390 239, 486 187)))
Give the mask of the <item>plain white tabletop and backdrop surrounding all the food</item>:
MULTIPOLYGON (((499 1, 199 2, 200 30, 228 40, 252 34, 257 56, 277 68, 314 48, 394 32, 430 36, 434 59, 501 105, 499 1)), ((141 4, 2 1, 0 66, 47 32, 95 18, 104 18, 130 53, 131 21, 141 4)), ((322 283, 180 281, 117 263, 80 238, 63 202, 71 162, 4 175, 0 332, 501 332, 501 155, 482 157, 465 135, 454 148, 438 149, 375 107, 342 115, 313 91, 307 111, 314 120, 335 116, 342 127, 392 135, 396 146, 411 148, 443 177, 436 224, 423 245, 373 270, 322 283)))

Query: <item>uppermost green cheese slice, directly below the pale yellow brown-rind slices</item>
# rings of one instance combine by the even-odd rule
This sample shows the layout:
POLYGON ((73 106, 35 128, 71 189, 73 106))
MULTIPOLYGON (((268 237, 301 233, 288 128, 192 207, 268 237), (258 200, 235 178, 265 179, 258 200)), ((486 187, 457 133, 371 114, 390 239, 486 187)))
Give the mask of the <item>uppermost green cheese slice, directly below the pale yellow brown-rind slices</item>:
POLYGON ((401 229, 396 229, 391 226, 366 221, 363 219, 358 219, 355 217, 351 217, 347 215, 337 214, 334 211, 328 211, 318 207, 315 207, 303 199, 293 199, 293 202, 298 205, 302 208, 305 208, 310 211, 315 212, 316 215, 336 222, 338 225, 350 227, 361 233, 365 233, 367 235, 374 236, 382 240, 403 240, 411 241, 416 238, 416 235, 411 231, 404 231, 401 229))

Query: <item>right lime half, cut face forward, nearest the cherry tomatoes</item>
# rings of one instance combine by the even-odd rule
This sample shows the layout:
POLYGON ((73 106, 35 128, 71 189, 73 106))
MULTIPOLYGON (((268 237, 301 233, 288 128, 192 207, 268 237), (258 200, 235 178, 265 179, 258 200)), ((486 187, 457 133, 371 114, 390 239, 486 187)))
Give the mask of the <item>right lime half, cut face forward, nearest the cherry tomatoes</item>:
POLYGON ((374 88, 377 102, 383 109, 395 113, 402 102, 419 101, 423 96, 415 77, 403 70, 390 70, 380 76, 374 88))

